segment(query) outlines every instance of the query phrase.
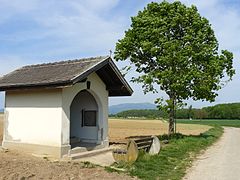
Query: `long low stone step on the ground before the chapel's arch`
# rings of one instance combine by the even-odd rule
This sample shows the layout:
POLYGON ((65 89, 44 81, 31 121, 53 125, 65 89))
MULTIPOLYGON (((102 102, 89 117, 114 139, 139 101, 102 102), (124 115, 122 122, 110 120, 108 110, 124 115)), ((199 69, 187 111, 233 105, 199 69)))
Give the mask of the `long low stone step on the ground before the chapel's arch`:
POLYGON ((112 148, 97 149, 97 150, 92 150, 92 151, 86 151, 86 152, 71 154, 68 158, 71 159, 71 160, 77 160, 77 159, 81 159, 81 158, 96 156, 98 154, 107 153, 107 152, 110 152, 112 150, 113 150, 112 148))

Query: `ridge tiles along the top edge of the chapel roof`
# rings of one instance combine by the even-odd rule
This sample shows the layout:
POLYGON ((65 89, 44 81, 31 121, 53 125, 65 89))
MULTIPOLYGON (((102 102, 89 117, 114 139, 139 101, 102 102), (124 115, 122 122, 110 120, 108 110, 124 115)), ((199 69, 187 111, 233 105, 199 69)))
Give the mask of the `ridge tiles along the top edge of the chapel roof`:
MULTIPOLYGON (((28 68, 33 68, 33 67, 44 67, 44 66, 55 66, 55 65, 65 65, 65 64, 74 64, 76 62, 80 61, 96 61, 96 60, 103 60, 108 58, 109 56, 96 56, 96 57, 88 57, 88 58, 81 58, 81 59, 73 59, 73 60, 63 60, 63 61, 55 61, 55 62, 50 62, 50 63, 42 63, 42 64, 34 64, 34 65, 27 65, 23 66, 20 69, 28 69, 28 68)), ((18 69, 18 70, 20 70, 18 69)))

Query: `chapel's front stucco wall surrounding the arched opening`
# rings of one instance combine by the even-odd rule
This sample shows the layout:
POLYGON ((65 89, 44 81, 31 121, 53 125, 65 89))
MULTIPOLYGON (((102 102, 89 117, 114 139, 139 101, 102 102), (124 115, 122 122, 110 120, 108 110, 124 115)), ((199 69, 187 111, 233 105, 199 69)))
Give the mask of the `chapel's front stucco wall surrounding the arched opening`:
MULTIPOLYGON (((106 90, 105 84, 98 77, 96 73, 92 73, 88 76, 87 81, 91 82, 91 87, 88 90, 90 92, 97 104, 98 104, 98 126, 97 126, 97 142, 108 141, 108 91, 106 90), (104 130, 103 130, 104 129, 104 130)), ((81 91, 87 89, 87 82, 77 83, 72 87, 67 87, 63 89, 62 92, 62 102, 63 102, 63 121, 62 121, 62 144, 69 144, 70 141, 70 106, 74 97, 81 91)), ((80 123, 79 123, 80 125, 80 123)), ((79 127, 81 128, 81 127, 79 127)), ((92 127, 84 129, 86 134, 86 140, 95 139, 93 133, 91 133, 92 127), (90 130, 90 131, 89 131, 90 130)))

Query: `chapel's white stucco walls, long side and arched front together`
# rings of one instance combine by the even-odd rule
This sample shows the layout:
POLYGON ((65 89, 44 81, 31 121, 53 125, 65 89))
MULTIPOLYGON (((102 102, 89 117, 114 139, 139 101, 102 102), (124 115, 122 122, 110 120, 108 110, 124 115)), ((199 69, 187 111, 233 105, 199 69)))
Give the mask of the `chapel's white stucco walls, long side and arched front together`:
MULTIPOLYGON (((96 73, 89 75, 87 81, 91 82, 87 91, 93 95, 98 105, 98 119, 95 129, 97 138, 91 137, 87 129, 84 132, 85 138, 108 143, 108 91, 96 73)), ((74 97, 81 90, 87 89, 86 84, 87 82, 77 83, 63 89, 8 91, 3 144, 14 142, 68 147, 70 106, 74 97)))

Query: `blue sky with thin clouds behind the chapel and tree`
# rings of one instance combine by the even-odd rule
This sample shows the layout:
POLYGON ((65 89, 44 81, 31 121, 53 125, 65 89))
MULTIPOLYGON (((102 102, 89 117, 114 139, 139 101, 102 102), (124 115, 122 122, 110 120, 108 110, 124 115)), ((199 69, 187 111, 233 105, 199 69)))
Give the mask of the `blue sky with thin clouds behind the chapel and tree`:
MULTIPOLYGON (((0 0, 0 76, 24 65, 109 55, 135 16, 150 0, 0 0)), ((155 1, 161 2, 161 1, 155 1)), ((238 0, 182 0, 197 6, 212 24, 220 49, 234 54, 236 75, 219 91, 213 104, 188 100, 193 107, 240 102, 240 2, 238 0)), ((126 62, 118 62, 118 67, 126 62)), ((126 78, 130 81, 130 72, 126 78)), ((144 95, 130 82, 131 97, 112 97, 110 105, 153 103, 164 92, 144 95)), ((0 109, 4 93, 0 93, 0 109)))

